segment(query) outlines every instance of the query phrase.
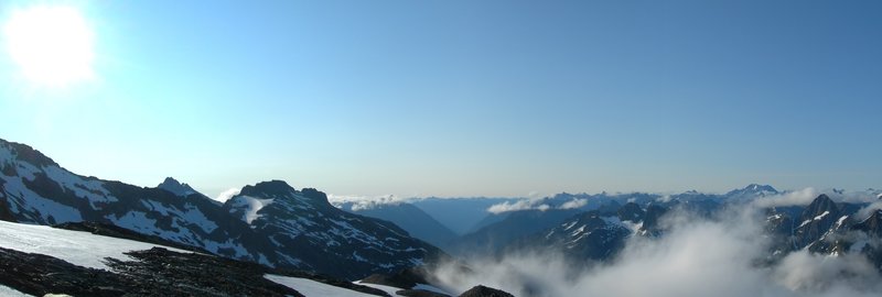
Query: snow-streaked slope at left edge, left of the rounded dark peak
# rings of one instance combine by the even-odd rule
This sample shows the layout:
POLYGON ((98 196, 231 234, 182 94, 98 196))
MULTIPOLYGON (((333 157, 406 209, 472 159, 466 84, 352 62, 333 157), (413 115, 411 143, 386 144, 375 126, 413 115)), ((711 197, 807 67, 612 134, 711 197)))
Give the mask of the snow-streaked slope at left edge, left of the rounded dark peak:
MULTIPOLYGON (((90 221, 158 235, 212 253, 256 260, 235 239, 250 230, 201 195, 84 177, 30 146, 0 140, 0 200, 11 220, 35 224, 90 221)), ((0 211, 2 212, 2 211, 0 211)))

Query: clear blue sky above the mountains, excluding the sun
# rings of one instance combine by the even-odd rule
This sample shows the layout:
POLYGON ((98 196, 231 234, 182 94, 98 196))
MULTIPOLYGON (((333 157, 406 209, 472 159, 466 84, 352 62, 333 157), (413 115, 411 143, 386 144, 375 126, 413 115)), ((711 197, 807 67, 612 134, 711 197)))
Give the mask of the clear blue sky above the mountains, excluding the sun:
POLYGON ((882 187, 878 1, 60 3, 95 76, 41 87, 0 56, 0 138, 85 175, 212 196, 882 187))

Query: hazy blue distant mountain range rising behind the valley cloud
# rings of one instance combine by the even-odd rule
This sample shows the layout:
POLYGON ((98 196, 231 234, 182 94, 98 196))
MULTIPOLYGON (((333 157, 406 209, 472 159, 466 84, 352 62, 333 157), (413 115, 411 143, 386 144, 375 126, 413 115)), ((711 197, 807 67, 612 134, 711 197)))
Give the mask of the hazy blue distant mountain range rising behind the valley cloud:
MULTIPOLYGON (((503 253, 523 250, 557 250, 564 254, 581 260, 605 261, 624 246, 627 238, 633 235, 660 237, 664 228, 659 219, 669 210, 680 209, 691 213, 711 218, 725 210, 728 206, 749 204, 756 199, 784 197, 787 191, 779 191, 768 185, 751 184, 743 188, 725 194, 702 194, 689 190, 675 195, 658 195, 645 193, 632 194, 558 194, 541 199, 480 199, 470 201, 465 199, 431 198, 413 200, 412 204, 442 206, 440 211, 433 212, 454 217, 455 213, 469 213, 483 209, 482 216, 469 213, 469 221, 473 222, 471 231, 447 242, 435 241, 447 252, 460 256, 501 255, 503 253), (579 207, 563 207, 572 201, 584 200, 577 204, 579 207), (495 204, 493 204, 495 202, 495 204), (494 205, 508 204, 516 210, 490 212, 494 205), (483 217, 477 220, 478 217, 483 217)), ((841 191, 833 191, 841 195, 841 191)), ((869 189, 864 196, 878 196, 869 189)), ((770 230, 770 235, 779 243, 777 249, 771 251, 777 256, 800 249, 810 249, 815 252, 833 254, 842 250, 852 249, 853 244, 868 251, 871 257, 875 250, 870 251, 862 242, 847 242, 841 238, 854 238, 854 230, 870 230, 867 234, 876 232, 878 224, 873 216, 868 221, 857 220, 857 211, 867 207, 868 202, 833 202, 827 195, 819 195, 807 206, 770 207, 767 221, 762 222, 770 230), (848 235, 843 234, 849 233, 848 235), (838 239, 836 244, 830 244, 830 239, 838 239)), ((400 222, 402 224, 435 226, 437 221, 431 216, 422 216, 410 221, 402 221, 391 216, 389 209, 410 209, 406 202, 394 206, 377 206, 377 210, 359 210, 369 217, 400 222)), ((419 211, 411 210, 413 213, 419 211)), ((880 215, 882 216, 882 215, 880 215)), ((469 230, 459 226, 459 230, 469 230)), ((411 228, 408 230, 417 238, 430 237, 432 231, 411 228), (422 234, 427 232, 427 234, 422 234)), ((447 232, 443 232, 447 234, 447 232)), ((449 234, 445 235, 448 238, 449 234)), ((873 245, 875 246, 875 245, 873 245)))

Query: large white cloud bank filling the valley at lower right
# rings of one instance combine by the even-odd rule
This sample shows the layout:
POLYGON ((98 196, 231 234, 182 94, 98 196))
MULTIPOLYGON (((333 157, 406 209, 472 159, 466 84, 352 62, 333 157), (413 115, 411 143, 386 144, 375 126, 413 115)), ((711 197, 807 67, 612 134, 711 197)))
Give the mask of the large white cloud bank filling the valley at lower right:
POLYGON ((882 277, 859 254, 798 251, 768 264, 760 209, 745 205, 712 219, 671 211, 663 218, 663 237, 633 235, 614 260, 587 268, 559 253, 537 251, 471 260, 472 273, 441 265, 435 275, 453 293, 483 284, 516 296, 832 297, 882 292, 882 277))

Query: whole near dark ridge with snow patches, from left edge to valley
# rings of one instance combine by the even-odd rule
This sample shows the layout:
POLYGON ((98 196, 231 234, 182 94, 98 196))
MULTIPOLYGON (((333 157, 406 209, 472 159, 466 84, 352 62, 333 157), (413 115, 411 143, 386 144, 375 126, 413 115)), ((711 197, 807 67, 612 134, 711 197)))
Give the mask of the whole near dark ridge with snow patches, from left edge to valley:
POLYGON ((148 188, 80 176, 2 140, 0 219, 111 224, 232 258, 351 279, 439 255, 389 222, 332 207, 315 189, 260 183, 219 205, 172 178, 148 188))

